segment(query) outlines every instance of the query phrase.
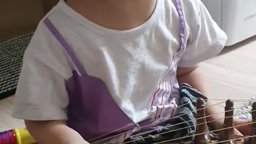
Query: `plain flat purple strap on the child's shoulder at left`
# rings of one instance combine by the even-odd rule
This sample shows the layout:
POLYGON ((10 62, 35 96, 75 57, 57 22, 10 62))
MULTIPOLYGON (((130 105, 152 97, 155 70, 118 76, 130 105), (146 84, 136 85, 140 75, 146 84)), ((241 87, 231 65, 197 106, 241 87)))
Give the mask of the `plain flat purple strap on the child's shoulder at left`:
POLYGON ((44 23, 46 27, 51 31, 53 36, 57 39, 57 41, 61 44, 63 50, 67 53, 69 59, 73 63, 73 66, 75 67, 77 73, 79 76, 86 75, 86 71, 84 70, 81 62, 77 59, 75 53, 71 49, 71 47, 68 45, 68 43, 65 41, 63 36, 59 33, 59 31, 53 26, 52 22, 49 20, 49 18, 46 18, 44 20, 44 23))

